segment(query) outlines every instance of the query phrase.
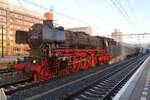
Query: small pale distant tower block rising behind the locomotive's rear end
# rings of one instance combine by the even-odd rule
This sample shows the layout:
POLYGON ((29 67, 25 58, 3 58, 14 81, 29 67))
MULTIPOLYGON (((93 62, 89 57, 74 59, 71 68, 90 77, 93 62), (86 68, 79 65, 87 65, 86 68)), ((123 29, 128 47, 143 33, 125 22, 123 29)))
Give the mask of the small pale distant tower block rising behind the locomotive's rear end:
POLYGON ((111 34, 111 38, 113 38, 117 42, 122 42, 122 32, 120 32, 118 29, 115 29, 111 34))

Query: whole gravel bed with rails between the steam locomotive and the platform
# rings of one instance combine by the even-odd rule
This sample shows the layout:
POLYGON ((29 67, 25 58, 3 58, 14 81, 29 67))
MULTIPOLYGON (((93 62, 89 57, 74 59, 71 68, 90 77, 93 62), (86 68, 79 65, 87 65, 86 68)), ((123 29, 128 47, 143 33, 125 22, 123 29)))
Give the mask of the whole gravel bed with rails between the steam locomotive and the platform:
POLYGON ((65 80, 58 81, 61 85, 56 85, 58 83, 57 81, 38 86, 32 85, 33 87, 28 90, 19 91, 19 94, 17 92, 12 94, 10 100, 93 100, 99 98, 107 100, 108 97, 111 98, 112 95, 114 95, 112 93, 118 91, 118 87, 121 88, 147 57, 148 55, 134 57, 124 62, 107 66, 107 68, 103 70, 78 77, 72 81, 67 81, 67 83, 64 82, 65 80), (128 75, 125 72, 130 73, 128 73, 128 75), (106 97, 107 99, 105 99, 106 97))

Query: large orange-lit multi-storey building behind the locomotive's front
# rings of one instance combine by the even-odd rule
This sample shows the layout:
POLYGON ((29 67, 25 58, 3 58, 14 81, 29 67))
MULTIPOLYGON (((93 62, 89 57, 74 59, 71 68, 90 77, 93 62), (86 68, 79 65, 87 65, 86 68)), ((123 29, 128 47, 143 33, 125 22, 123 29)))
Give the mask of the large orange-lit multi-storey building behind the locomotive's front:
MULTIPOLYGON (((4 25, 4 55, 26 55, 28 45, 15 44, 16 30, 28 31, 34 23, 42 23, 44 17, 28 9, 0 0, 0 25, 4 25)), ((2 54, 2 28, 0 28, 0 55, 2 54)))

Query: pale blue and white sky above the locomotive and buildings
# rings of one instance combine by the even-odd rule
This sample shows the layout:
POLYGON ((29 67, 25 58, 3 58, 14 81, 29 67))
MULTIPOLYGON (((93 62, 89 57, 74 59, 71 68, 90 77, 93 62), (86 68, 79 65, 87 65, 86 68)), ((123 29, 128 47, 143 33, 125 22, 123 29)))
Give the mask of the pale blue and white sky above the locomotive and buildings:
MULTIPOLYGON (((26 0, 8 0, 39 13, 44 13, 40 7, 25 2, 26 0)), ((150 0, 27 0, 46 8, 53 6, 54 12, 59 12, 71 19, 54 13, 55 23, 65 28, 90 26, 93 35, 110 35, 114 29, 119 29, 123 34, 150 33, 150 0), (123 15, 129 17, 128 21, 114 6, 112 2, 120 3, 119 9, 123 15), (124 9, 124 10, 123 10, 124 9), (131 21, 132 20, 132 21, 131 21)), ((125 42, 150 42, 150 36, 127 36, 125 42)))

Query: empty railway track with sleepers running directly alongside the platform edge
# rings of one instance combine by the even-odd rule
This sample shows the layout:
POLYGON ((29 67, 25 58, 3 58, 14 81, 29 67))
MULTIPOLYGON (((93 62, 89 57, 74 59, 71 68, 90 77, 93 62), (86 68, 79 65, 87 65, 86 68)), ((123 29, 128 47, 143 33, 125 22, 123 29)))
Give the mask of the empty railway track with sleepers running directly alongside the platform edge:
POLYGON ((145 60, 145 56, 129 64, 115 74, 107 73, 103 78, 65 97, 65 100, 111 100, 145 60))

